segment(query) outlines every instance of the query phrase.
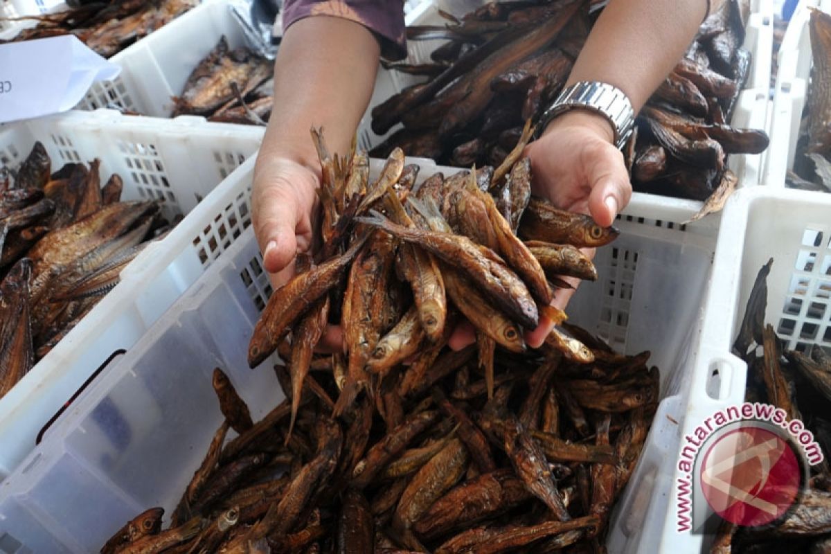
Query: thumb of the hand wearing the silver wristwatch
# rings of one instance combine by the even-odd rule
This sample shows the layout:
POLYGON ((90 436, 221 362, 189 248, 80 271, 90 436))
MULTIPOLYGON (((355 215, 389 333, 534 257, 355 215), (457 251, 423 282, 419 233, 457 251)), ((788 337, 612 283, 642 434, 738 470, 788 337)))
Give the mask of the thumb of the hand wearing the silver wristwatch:
POLYGON ((608 227, 632 198, 632 184, 622 152, 613 145, 604 144, 590 162, 588 172, 588 182, 592 186, 588 211, 598 225, 608 227))

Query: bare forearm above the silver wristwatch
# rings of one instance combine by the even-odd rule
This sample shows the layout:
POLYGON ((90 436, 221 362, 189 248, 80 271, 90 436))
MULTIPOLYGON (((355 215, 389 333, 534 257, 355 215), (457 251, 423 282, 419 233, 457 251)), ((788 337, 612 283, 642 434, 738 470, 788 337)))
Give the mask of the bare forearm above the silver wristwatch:
MULTIPOLYGON (((711 12, 722 0, 712 0, 711 12)), ((683 56, 706 0, 611 0, 597 18, 568 85, 603 81, 629 96, 637 113, 683 56)))

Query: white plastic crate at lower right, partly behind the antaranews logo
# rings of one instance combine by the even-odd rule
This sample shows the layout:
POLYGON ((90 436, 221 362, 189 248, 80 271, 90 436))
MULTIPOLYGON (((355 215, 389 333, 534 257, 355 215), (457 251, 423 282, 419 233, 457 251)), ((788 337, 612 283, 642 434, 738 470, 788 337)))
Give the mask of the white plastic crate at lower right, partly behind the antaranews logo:
MULTIPOLYGON (((774 326, 787 341, 787 348, 804 351, 807 346, 831 346, 831 198, 782 187, 755 187, 737 191, 724 212, 713 262, 710 295, 701 329, 700 370, 691 382, 686 421, 681 436, 693 434, 723 400, 744 400, 747 367, 730 354, 739 332, 745 306, 760 268, 774 258, 767 278, 765 323, 774 326), (798 216, 794 216, 798 214, 798 216)), ((675 464, 680 449, 666 453, 675 464)), ((665 483, 669 496, 662 529, 642 545, 640 552, 706 552, 695 537, 676 531, 676 480, 684 474, 675 469, 665 483)), ((635 506, 637 509, 637 506, 635 506)), ((708 544, 704 545, 708 547, 708 544)))

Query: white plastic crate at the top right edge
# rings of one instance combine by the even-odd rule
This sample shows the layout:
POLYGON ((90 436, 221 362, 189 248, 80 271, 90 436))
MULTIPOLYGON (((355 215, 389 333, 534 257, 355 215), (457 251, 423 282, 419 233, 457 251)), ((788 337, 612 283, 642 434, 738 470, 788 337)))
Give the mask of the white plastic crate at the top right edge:
POLYGON ((770 124, 770 155, 765 166, 765 184, 784 187, 785 175, 794 167, 799 122, 808 101, 813 63, 810 9, 831 13, 829 0, 801 0, 779 47, 779 74, 776 76, 773 114, 770 124))

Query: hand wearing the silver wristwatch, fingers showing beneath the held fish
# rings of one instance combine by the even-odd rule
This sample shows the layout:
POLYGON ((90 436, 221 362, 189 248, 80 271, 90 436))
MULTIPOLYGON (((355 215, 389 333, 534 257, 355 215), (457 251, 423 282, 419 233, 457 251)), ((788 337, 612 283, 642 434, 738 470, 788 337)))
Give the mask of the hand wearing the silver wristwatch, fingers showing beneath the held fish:
MULTIPOLYGON (((598 225, 608 227, 629 203, 632 184, 623 154, 613 145, 612 125, 587 110, 572 110, 551 121, 543 135, 525 149, 534 175, 532 191, 570 212, 591 215, 598 225)), ((594 249, 583 249, 593 257, 594 249)), ((580 280, 563 277, 573 289, 554 292, 553 306, 565 309, 580 280)), ((554 323, 540 314, 536 329, 525 331, 532 348, 543 345, 554 323)), ((475 342, 473 326, 466 321, 450 336, 450 347, 459 350, 475 342)))

